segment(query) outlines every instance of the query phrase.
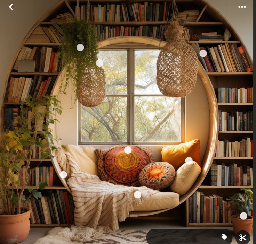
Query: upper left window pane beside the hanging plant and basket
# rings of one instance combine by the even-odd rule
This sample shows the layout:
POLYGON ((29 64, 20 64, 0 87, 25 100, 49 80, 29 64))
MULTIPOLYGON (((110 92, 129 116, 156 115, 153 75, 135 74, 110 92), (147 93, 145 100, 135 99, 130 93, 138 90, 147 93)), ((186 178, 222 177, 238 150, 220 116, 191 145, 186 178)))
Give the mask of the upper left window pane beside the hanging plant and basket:
POLYGON ((106 94, 127 94, 127 50, 100 50, 106 94))

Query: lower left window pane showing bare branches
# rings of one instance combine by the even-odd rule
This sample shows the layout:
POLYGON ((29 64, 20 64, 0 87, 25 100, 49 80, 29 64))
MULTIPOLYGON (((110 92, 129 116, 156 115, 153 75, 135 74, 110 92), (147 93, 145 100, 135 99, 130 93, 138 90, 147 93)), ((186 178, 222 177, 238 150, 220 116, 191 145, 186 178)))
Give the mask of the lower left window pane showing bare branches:
POLYGON ((127 97, 106 97, 97 107, 81 106, 82 142, 127 142, 127 97))

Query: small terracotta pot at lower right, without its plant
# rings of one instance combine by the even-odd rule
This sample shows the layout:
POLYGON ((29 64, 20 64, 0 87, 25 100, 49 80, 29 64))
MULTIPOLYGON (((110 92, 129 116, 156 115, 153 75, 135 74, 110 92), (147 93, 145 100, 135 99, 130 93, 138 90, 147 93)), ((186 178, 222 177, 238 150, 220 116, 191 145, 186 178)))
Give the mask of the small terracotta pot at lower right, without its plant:
POLYGON ((245 230, 251 234, 251 228, 253 227, 253 217, 248 216, 247 219, 240 219, 240 215, 232 215, 231 216, 231 222, 233 224, 233 229, 235 235, 240 231, 240 230, 245 230))

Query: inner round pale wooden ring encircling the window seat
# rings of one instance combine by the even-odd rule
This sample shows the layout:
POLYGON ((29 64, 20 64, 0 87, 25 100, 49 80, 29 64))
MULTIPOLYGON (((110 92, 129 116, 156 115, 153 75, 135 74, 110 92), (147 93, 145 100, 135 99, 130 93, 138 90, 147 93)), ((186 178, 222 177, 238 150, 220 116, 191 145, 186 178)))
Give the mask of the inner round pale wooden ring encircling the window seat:
MULTIPOLYGON (((108 45, 121 44, 121 43, 141 43, 141 44, 156 46, 159 48, 162 48, 166 44, 166 42, 164 42, 164 41, 159 41, 159 40, 151 38, 151 37, 119 36, 119 37, 111 37, 111 38, 107 38, 103 41, 99 41, 98 47, 100 49, 100 48, 106 47, 108 45)), ((209 79, 205 69, 203 68, 202 64, 199 61, 198 61, 198 64, 199 64, 198 76, 200 77, 203 87, 205 88, 205 92, 206 92, 208 103, 209 103, 209 112, 210 112, 209 137, 208 137, 205 156, 202 160, 202 172, 200 173, 197 181, 193 184, 191 189, 186 194, 184 194, 180 197, 179 204, 181 204, 187 198, 189 198, 190 195, 192 195, 198 189, 198 187, 201 185, 201 183, 205 179, 205 176, 210 169, 211 163, 213 162, 213 157, 215 154, 216 143, 217 143, 217 138, 218 138, 218 105, 217 105, 216 95, 215 95, 213 86, 211 85, 210 79, 209 79)), ((52 91, 53 94, 58 93, 58 84, 59 83, 60 82, 57 82, 56 86, 54 87, 54 89, 52 91)), ((61 172, 61 168, 59 167, 58 162, 55 158, 53 158, 52 160, 53 160, 53 165, 55 167, 55 170, 59 174, 61 172)), ((61 178, 61 181, 62 181, 63 185, 66 187, 66 189, 68 191, 70 191, 66 180, 61 178)), ((130 217, 158 214, 160 212, 164 212, 169 209, 171 209, 171 208, 157 210, 157 211, 134 211, 134 212, 130 213, 130 217)))

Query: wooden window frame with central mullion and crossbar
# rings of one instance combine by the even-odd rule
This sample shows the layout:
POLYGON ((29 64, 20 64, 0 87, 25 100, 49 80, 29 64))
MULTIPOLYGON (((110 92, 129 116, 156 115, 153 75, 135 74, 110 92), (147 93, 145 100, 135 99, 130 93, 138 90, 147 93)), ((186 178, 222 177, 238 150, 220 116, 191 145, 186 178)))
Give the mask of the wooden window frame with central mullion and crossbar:
POLYGON ((134 94, 135 84, 135 51, 136 50, 159 50, 156 47, 141 47, 141 45, 129 45, 129 47, 105 47, 99 50, 127 50, 127 94, 113 94, 106 97, 127 97, 127 142, 82 142, 81 141, 81 104, 78 102, 78 145, 177 145, 184 142, 185 138, 185 98, 181 98, 181 141, 134 141, 134 101, 135 97, 165 97, 162 94, 134 94))

